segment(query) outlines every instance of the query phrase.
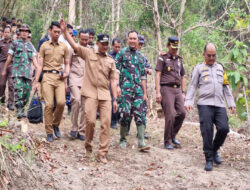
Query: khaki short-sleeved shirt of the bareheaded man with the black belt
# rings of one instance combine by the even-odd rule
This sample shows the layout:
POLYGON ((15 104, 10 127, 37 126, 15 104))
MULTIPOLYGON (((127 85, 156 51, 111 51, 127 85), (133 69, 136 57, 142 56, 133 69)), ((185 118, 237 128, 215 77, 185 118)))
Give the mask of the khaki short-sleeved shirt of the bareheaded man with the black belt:
POLYGON ((63 59, 69 59, 68 47, 57 42, 53 44, 51 40, 44 42, 40 49, 40 56, 43 58, 43 70, 62 70, 63 59))

